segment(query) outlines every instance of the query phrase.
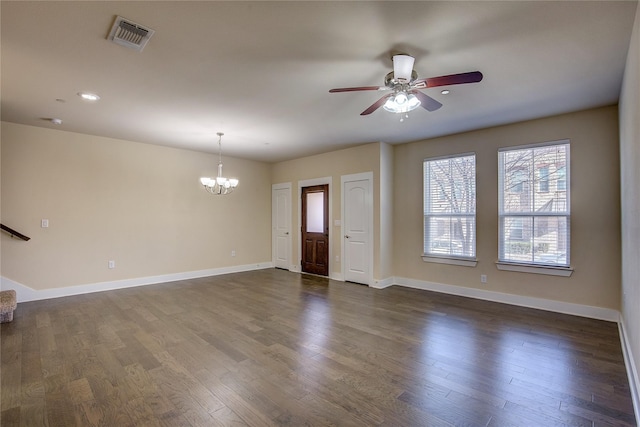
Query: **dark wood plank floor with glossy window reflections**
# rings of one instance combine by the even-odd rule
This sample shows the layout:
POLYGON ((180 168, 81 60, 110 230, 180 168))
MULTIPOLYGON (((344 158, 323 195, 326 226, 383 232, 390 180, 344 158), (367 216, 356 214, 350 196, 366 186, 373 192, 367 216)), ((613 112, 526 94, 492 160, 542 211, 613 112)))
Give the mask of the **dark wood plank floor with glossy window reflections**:
POLYGON ((617 325, 261 270, 21 303, 9 426, 631 426, 617 325))

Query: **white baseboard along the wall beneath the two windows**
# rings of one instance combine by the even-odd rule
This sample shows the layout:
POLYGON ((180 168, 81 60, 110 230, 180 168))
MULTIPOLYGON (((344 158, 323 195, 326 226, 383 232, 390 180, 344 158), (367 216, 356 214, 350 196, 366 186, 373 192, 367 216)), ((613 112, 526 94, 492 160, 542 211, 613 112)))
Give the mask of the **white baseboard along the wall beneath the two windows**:
POLYGON ((527 297, 523 295, 505 294, 502 292, 467 288, 465 286, 446 285, 443 283, 426 282, 423 280, 408 279, 404 277, 395 277, 394 281, 396 285, 406 286, 408 288, 442 292, 451 295, 459 295, 486 301, 500 302, 503 304, 535 308, 538 310, 589 317, 591 319, 607 320, 609 322, 618 322, 620 320, 620 313, 617 310, 610 308, 554 301, 544 298, 527 297))

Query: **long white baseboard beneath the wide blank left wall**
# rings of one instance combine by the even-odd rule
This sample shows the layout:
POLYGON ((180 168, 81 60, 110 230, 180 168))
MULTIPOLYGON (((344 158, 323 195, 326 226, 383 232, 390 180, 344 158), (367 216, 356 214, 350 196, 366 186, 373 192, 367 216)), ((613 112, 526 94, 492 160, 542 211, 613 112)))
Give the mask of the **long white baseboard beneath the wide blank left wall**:
POLYGON ((135 286, 153 285, 158 283, 175 282, 178 280, 197 279, 199 277, 218 276, 221 274, 239 273, 242 271, 262 270, 271 268, 271 262, 256 264, 234 265, 232 267, 211 268, 207 270, 186 271, 183 273, 163 274, 160 276, 137 277, 134 279, 99 282, 87 285, 68 286, 64 288, 37 290, 15 282, 7 277, 1 277, 0 289, 16 291, 18 302, 37 301, 50 298, 67 297, 71 295, 88 294, 92 292, 110 291, 113 289, 132 288, 135 286))

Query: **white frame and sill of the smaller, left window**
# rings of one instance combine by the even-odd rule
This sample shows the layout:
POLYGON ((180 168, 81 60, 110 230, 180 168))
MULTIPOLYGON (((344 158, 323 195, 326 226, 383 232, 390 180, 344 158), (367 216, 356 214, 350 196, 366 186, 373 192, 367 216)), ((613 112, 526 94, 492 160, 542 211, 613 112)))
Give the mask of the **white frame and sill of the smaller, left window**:
MULTIPOLYGON (((422 259, 425 262, 434 262, 440 264, 453 264, 453 265, 462 265, 466 267, 475 267, 477 265, 476 259, 476 246, 477 246, 477 222, 476 222, 476 201, 477 201, 477 185, 476 185, 476 177, 477 177, 477 160, 476 153, 462 153, 448 156, 440 156, 440 157, 429 157, 423 160, 422 163, 422 182, 423 182, 423 254, 422 259), (447 159, 458 159, 463 157, 473 157, 474 163, 474 176, 473 176, 473 187, 474 187, 474 211, 472 213, 432 213, 430 211, 430 204, 435 200, 432 200, 428 197, 430 194, 436 194, 431 191, 430 186, 430 177, 427 176, 427 165, 429 162, 447 160, 447 159), (441 254, 434 253, 427 250, 429 246, 431 246, 431 236, 429 236, 430 228, 426 226, 429 222, 429 218, 472 218, 473 219, 473 255, 472 256, 464 256, 464 255, 455 255, 455 254, 441 254)), ((438 193, 440 194, 440 193, 438 193)))

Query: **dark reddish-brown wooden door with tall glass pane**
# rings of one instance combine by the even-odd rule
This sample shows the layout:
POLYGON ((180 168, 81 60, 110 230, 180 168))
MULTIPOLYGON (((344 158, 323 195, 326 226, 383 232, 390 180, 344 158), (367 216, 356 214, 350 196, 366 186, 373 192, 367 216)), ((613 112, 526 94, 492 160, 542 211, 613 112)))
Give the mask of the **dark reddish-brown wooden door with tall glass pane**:
POLYGON ((302 271, 329 275, 329 185, 302 188, 302 271))

